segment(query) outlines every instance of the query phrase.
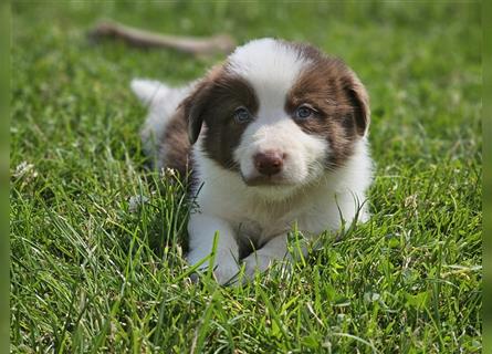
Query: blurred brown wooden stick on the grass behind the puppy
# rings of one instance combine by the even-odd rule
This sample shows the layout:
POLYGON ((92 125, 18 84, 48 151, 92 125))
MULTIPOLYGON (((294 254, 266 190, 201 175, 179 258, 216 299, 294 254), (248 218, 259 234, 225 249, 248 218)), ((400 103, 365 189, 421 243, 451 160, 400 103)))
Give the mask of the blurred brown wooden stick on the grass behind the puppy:
POLYGON ((90 35, 93 39, 119 38, 135 46, 172 49, 193 55, 210 55, 217 52, 228 54, 235 46, 234 40, 228 34, 210 38, 179 37, 148 32, 108 21, 97 24, 90 35))

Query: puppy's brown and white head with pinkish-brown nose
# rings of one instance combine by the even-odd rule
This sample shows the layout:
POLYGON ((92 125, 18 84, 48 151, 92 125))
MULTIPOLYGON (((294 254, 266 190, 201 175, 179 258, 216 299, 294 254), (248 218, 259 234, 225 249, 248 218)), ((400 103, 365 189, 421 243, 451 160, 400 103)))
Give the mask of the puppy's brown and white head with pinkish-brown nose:
POLYGON ((182 106, 208 158, 279 195, 343 166, 369 125, 367 93, 342 61, 272 39, 238 48, 182 106))

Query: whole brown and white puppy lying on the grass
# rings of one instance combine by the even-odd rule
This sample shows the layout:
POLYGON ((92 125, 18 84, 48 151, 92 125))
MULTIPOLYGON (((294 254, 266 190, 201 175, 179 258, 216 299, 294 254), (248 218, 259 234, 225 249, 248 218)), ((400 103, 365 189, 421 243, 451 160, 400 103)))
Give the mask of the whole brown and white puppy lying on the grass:
POLYGON ((186 87, 132 87, 150 107, 143 139, 157 167, 181 176, 192 168, 199 209, 188 223, 188 261, 206 259, 218 231, 220 283, 242 263, 251 277, 289 258, 294 223, 314 237, 367 219, 368 96, 342 61, 261 39, 186 87), (250 244, 255 251, 241 259, 250 244))

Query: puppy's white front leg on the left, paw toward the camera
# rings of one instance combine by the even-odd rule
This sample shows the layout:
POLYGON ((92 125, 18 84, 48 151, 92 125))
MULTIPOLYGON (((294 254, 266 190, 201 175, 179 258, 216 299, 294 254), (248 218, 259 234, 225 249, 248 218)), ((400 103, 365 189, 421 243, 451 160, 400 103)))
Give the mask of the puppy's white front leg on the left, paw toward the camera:
MULTIPOLYGON (((210 256, 213 238, 218 233, 213 274, 221 284, 230 281, 239 271, 239 247, 234 238, 234 231, 229 222, 201 214, 193 214, 188 222, 189 247, 188 262, 199 263, 203 258, 210 256)), ((200 269, 208 268, 205 262, 200 269)))

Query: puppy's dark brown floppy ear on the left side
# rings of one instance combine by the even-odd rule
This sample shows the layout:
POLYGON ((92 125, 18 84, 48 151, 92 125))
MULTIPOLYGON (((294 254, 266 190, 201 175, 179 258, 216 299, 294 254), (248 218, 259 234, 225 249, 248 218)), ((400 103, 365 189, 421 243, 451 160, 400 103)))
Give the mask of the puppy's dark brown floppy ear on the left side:
POLYGON ((188 123, 188 138, 191 145, 198 140, 200 135, 210 91, 210 81, 205 79, 197 84, 193 92, 180 104, 188 123))

